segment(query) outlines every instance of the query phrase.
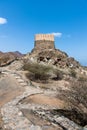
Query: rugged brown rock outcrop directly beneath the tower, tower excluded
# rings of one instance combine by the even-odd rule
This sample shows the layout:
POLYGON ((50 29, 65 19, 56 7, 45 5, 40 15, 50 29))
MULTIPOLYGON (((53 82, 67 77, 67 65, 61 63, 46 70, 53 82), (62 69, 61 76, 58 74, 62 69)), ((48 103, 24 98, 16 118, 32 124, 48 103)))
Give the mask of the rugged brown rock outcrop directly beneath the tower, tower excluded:
POLYGON ((78 61, 69 57, 67 53, 62 52, 59 49, 38 49, 36 51, 32 51, 30 54, 27 54, 25 59, 60 68, 79 68, 81 66, 78 61))

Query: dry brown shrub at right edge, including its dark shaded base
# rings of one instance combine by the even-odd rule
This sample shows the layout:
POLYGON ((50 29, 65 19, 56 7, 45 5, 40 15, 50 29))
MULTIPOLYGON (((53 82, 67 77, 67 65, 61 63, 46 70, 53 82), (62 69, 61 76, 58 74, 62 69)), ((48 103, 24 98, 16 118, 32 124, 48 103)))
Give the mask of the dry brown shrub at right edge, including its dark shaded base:
POLYGON ((79 125, 87 124, 87 81, 70 81, 70 90, 61 90, 58 98, 65 100, 68 105, 59 113, 79 125))

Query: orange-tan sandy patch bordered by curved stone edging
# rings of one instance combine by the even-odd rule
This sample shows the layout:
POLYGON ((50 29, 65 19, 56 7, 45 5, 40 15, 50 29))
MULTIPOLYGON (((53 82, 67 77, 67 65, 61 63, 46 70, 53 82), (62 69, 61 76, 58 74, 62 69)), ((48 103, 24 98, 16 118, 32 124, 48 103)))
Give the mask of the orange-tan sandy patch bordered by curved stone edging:
POLYGON ((67 105, 64 101, 60 99, 57 99, 52 96, 43 95, 43 94, 31 95, 26 99, 22 100, 21 103, 34 103, 39 105, 48 105, 60 109, 63 109, 67 105))

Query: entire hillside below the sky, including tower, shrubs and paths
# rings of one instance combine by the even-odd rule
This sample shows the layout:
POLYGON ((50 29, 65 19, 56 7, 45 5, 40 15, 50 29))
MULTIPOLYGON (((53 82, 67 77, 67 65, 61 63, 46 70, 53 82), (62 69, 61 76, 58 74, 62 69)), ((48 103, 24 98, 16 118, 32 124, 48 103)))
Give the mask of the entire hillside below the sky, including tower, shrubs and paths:
POLYGON ((31 53, 0 58, 1 130, 87 130, 87 70, 53 35, 36 35, 31 53))

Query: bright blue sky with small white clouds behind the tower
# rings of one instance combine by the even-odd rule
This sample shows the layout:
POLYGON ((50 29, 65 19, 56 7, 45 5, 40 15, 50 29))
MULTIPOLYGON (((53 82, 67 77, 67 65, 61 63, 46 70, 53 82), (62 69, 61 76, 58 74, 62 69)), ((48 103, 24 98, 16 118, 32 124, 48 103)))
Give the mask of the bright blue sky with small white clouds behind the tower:
POLYGON ((0 51, 30 52, 38 33, 87 65, 87 0, 0 0, 0 51))

